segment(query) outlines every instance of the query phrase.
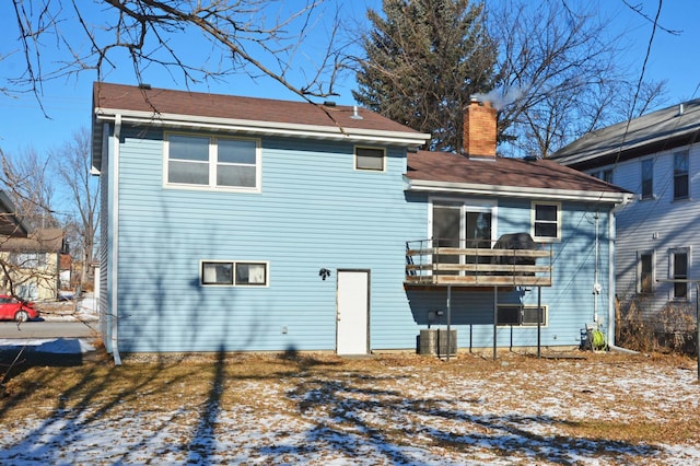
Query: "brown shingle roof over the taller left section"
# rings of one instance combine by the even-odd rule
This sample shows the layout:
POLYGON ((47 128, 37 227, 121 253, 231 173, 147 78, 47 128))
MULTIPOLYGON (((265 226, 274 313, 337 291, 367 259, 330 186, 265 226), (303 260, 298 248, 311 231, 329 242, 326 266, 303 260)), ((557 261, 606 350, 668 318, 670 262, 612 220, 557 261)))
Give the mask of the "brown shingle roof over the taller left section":
POLYGON ((418 131, 364 108, 358 108, 358 115, 362 118, 353 118, 354 108, 346 105, 315 105, 307 102, 241 97, 155 88, 142 89, 105 82, 94 83, 93 96, 94 107, 104 109, 289 125, 340 126, 342 128, 419 135, 418 131))

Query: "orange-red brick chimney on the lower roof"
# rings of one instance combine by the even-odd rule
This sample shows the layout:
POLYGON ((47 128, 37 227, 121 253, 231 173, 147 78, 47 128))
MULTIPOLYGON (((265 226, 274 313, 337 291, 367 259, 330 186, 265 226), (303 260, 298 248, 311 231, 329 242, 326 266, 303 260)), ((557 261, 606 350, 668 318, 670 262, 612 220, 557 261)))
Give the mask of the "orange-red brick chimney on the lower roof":
POLYGON ((475 158, 495 158, 495 108, 475 96, 464 112, 464 153, 475 158))

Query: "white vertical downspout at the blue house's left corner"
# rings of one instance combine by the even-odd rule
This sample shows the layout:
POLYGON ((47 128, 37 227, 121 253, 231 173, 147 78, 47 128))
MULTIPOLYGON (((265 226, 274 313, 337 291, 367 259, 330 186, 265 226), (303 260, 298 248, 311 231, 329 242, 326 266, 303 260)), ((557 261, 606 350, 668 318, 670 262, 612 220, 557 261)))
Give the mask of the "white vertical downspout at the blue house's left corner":
POLYGON ((121 365, 121 357, 119 356, 119 338, 118 338, 118 317, 119 310, 117 306, 118 303, 118 264, 117 258, 119 257, 119 138, 121 136, 121 115, 117 114, 114 120, 114 145, 113 145, 113 158, 110 160, 110 173, 109 178, 112 179, 112 186, 114 186, 113 191, 113 215, 109 219, 112 221, 112 257, 110 257, 110 266, 112 266, 112 305, 109 306, 112 310, 112 354, 114 357, 115 365, 121 365))

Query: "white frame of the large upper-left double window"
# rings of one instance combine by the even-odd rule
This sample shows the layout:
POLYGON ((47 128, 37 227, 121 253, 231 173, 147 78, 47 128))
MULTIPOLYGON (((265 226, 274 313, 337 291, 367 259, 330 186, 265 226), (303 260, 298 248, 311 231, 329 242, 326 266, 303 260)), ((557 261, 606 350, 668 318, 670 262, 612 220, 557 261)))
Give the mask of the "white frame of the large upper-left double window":
POLYGON ((220 190, 228 193, 261 193, 262 186, 262 149, 259 138, 245 138, 233 136, 213 136, 210 133, 183 132, 183 131, 165 131, 163 135, 163 187, 168 189, 192 189, 192 190, 220 190), (209 138, 209 185, 192 185, 186 183, 170 183, 168 162, 170 162, 170 142, 171 136, 190 136, 194 138, 209 138), (255 142, 255 187, 243 186, 218 186, 217 185, 217 142, 220 139, 254 141, 255 142))

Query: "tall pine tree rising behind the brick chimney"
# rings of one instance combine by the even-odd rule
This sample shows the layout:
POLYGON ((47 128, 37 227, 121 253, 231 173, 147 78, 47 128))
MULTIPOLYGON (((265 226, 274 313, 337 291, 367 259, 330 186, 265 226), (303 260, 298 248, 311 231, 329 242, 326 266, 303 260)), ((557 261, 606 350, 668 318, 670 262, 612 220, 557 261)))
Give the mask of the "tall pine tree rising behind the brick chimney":
POLYGON ((357 71, 357 102, 432 135, 429 149, 462 151, 469 96, 493 86, 497 46, 483 4, 469 0, 384 0, 357 71))

